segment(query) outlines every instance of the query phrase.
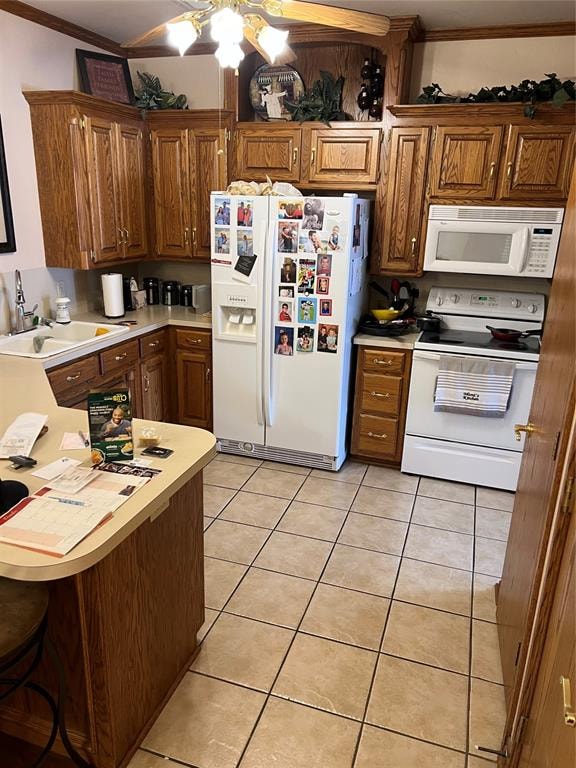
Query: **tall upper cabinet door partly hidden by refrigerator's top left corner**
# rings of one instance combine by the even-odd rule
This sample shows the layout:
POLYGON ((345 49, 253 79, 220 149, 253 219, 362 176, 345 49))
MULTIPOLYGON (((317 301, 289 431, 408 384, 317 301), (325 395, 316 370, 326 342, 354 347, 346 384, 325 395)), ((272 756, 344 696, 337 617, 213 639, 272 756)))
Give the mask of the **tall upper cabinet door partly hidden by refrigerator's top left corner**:
POLYGON ((210 256, 210 192, 224 190, 228 185, 226 144, 224 128, 190 132, 190 154, 196 179, 192 225, 195 256, 210 256))

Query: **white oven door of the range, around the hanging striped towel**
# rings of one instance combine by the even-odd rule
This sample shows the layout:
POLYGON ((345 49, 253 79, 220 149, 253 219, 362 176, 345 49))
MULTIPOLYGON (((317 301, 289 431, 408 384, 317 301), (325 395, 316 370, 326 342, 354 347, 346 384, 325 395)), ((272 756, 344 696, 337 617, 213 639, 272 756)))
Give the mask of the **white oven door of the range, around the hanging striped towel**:
POLYGON ((434 410, 439 361, 435 352, 414 350, 406 434, 521 452, 524 436, 521 441, 515 439, 514 424, 528 422, 538 364, 516 363, 508 410, 504 418, 494 419, 434 410))

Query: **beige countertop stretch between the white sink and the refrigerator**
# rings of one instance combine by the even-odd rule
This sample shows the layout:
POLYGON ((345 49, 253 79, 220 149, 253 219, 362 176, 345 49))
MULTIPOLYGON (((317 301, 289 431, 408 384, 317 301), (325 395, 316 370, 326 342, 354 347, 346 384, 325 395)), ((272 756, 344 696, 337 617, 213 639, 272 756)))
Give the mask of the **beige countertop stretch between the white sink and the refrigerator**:
POLYGON ((72 319, 89 323, 115 323, 122 320, 135 320, 137 325, 126 326, 126 329, 123 330, 122 333, 114 334, 113 336, 103 334, 102 336, 96 337, 91 344, 85 344, 82 347, 69 349, 59 355, 44 358, 42 360, 42 365, 46 370, 55 368, 63 363, 70 363, 73 360, 77 360, 79 357, 99 352, 114 344, 121 344, 123 341, 135 339, 145 333, 157 331, 168 325, 201 328, 206 331, 212 329, 211 316, 197 315, 194 310, 189 307, 168 307, 163 304, 149 306, 145 309, 137 309, 134 310, 134 312, 126 312, 126 315, 118 318, 118 320, 110 320, 109 318, 104 317, 100 312, 86 312, 81 315, 74 315, 72 319))

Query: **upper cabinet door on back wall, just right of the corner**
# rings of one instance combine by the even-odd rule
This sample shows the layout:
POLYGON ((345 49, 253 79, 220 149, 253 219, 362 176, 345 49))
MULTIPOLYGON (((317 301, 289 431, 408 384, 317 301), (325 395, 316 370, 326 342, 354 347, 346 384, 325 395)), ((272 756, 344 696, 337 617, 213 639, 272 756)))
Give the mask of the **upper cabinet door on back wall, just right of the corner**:
POLYGON ((152 171, 156 253, 175 259, 190 258, 192 202, 186 129, 152 131, 152 171))

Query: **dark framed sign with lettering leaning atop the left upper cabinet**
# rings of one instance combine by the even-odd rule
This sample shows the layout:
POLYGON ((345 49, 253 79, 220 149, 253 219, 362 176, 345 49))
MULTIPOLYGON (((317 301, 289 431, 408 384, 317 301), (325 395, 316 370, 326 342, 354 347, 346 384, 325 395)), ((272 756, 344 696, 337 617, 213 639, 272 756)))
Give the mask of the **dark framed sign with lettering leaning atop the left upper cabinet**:
POLYGON ((121 104, 134 104, 134 89, 126 59, 77 48, 76 61, 84 93, 121 104))

